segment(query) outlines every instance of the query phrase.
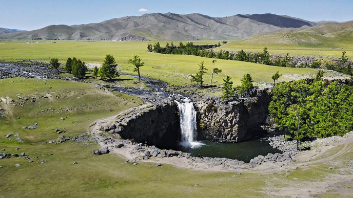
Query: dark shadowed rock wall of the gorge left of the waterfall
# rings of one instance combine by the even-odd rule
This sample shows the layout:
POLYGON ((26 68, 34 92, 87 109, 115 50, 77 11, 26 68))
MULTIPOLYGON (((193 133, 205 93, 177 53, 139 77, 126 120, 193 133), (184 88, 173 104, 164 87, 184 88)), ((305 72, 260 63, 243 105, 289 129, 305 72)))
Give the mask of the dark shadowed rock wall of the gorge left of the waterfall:
POLYGON ((136 115, 125 123, 119 134, 124 139, 159 147, 180 139, 180 122, 175 104, 165 104, 136 115))

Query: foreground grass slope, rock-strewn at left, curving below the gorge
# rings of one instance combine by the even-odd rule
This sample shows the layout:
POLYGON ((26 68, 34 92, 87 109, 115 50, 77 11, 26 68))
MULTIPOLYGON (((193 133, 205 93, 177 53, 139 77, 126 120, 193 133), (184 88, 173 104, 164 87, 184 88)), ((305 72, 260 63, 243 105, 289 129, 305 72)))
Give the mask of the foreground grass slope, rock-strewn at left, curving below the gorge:
MULTIPOLYGON (((0 160, 0 197, 263 197, 269 196, 269 192, 281 194, 284 184, 298 187, 305 182, 321 181, 336 171, 327 169, 333 162, 290 170, 289 177, 284 173, 237 174, 171 165, 156 167, 153 163, 134 166, 111 153, 92 155, 90 151, 99 148, 93 142, 46 142, 61 135, 84 133, 94 120, 139 105, 140 99, 112 94, 94 87, 93 83, 21 78, 0 80, 0 98, 0 106, 6 110, 6 116, 0 118, 0 149, 17 154, 25 152, 33 160, 33 163, 24 157, 0 160), (21 104, 23 100, 18 97, 36 99, 21 104), (107 111, 109 107, 113 112, 107 111), (66 108, 68 112, 61 112, 66 108), (22 128, 34 122, 38 128, 22 128), (55 134, 52 129, 57 127, 65 128, 66 133, 55 134), (24 142, 18 143, 16 137, 7 139, 9 133, 18 133, 24 142), (21 166, 15 167, 17 163, 21 166)), ((348 163, 352 154, 345 153, 340 162, 348 163)))

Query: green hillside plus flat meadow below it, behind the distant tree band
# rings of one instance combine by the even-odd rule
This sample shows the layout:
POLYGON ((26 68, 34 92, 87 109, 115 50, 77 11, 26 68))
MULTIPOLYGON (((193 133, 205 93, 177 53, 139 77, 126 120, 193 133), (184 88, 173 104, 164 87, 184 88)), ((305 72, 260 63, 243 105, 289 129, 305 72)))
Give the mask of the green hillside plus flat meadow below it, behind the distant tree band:
POLYGON ((270 53, 306 56, 336 56, 342 51, 353 57, 353 21, 327 23, 307 29, 291 28, 273 33, 260 34, 237 41, 230 41, 220 49, 228 51, 262 51, 270 53))

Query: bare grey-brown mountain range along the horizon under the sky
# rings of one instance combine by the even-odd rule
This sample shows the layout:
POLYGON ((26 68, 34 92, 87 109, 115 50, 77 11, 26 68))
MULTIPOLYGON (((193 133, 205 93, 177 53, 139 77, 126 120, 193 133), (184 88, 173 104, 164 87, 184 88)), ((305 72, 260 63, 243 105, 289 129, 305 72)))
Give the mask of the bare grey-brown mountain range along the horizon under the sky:
POLYGON ((275 14, 210 17, 203 14, 151 13, 86 25, 52 25, 1 35, 6 39, 201 40, 237 39, 283 28, 311 27, 310 21, 275 14))

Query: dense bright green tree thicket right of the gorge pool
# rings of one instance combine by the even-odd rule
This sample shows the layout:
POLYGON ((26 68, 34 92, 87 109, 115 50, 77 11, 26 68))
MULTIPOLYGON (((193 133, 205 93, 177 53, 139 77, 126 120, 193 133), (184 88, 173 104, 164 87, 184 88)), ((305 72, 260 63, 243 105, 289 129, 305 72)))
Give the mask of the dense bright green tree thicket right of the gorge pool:
POLYGON ((299 141, 344 135, 353 129, 353 86, 322 80, 278 83, 269 113, 279 128, 299 141))

